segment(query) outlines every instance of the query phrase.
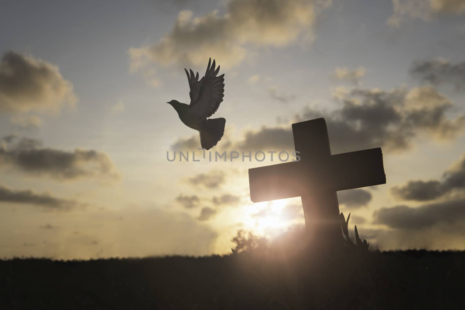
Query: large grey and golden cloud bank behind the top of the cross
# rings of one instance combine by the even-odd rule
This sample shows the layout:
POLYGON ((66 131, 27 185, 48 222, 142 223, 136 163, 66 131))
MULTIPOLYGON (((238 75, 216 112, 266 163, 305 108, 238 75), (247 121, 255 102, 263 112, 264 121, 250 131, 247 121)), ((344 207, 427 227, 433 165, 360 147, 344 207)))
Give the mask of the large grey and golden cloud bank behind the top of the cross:
MULTIPOLYGON (((326 119, 333 154, 383 147, 384 152, 410 149, 416 138, 454 139, 465 130, 465 116, 446 117, 452 102, 433 86, 383 91, 355 88, 339 92, 342 105, 332 111, 305 107, 293 122, 326 119)), ((262 126, 249 130, 231 149, 268 151, 293 150, 290 125, 262 126)))

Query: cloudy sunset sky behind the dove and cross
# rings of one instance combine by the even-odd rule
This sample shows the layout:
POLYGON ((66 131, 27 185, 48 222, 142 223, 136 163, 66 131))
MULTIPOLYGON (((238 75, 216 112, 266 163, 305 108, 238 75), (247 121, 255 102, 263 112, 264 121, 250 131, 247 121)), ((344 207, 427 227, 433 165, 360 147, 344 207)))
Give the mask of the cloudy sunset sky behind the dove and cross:
MULTIPOLYGON (((226 254, 304 224, 254 204, 257 151, 324 117, 332 154, 381 147, 386 184, 339 191, 380 250, 464 250, 464 0, 7 1, 0 11, 0 257, 226 254), (225 74, 212 151, 167 101, 225 74), (177 152, 177 160, 167 160, 177 152), (207 155, 208 156, 208 155, 207 155)), ((291 156, 292 159, 292 156, 291 156)))

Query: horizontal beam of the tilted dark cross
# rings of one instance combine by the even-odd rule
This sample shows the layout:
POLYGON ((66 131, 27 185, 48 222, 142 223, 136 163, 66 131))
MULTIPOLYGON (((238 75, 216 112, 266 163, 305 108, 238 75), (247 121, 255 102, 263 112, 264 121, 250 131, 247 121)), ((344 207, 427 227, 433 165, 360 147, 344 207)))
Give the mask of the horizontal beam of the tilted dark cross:
POLYGON ((249 169, 250 199, 263 202, 312 191, 343 191, 386 183, 381 148, 331 155, 321 165, 289 162, 249 169), (310 185, 310 186, 309 186, 310 185))

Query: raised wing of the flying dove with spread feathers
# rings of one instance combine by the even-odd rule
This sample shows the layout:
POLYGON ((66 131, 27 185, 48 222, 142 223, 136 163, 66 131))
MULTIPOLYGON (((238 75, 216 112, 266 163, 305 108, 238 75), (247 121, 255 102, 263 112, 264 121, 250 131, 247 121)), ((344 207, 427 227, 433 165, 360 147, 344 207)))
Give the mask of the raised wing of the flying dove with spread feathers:
POLYGON ((213 59, 212 66, 210 66, 211 61, 212 59, 210 58, 208 60, 205 76, 202 79, 198 80, 199 73, 197 73, 197 77, 194 77, 192 71, 191 76, 188 76, 189 85, 191 81, 194 80, 191 91, 189 92, 191 96, 189 108, 194 115, 197 115, 201 119, 212 116, 213 113, 218 110, 219 104, 223 101, 225 92, 225 84, 223 83, 225 81, 225 75, 221 74, 220 76, 216 76, 219 72, 219 66, 215 70, 215 59, 213 59))

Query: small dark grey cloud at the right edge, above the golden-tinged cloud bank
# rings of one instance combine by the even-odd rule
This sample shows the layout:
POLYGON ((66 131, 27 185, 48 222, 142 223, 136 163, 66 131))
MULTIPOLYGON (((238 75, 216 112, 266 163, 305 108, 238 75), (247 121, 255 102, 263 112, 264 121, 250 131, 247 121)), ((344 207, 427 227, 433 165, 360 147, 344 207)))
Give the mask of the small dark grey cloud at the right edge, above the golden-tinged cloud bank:
POLYGON ((445 59, 416 61, 410 68, 410 74, 436 86, 449 83, 458 91, 465 89, 465 62, 451 64, 445 59))

